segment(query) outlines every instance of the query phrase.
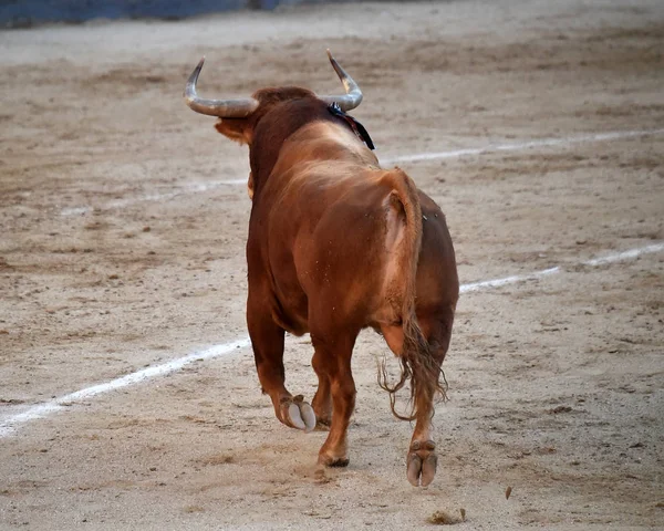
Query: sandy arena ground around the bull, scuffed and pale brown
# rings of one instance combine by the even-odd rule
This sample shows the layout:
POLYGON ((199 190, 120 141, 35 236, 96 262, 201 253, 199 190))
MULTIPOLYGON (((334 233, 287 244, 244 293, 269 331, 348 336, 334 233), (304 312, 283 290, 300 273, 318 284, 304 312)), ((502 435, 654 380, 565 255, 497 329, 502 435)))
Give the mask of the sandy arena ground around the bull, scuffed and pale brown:
MULTIPOLYGON (((364 90, 383 158, 664 124, 664 3, 354 4, 0 32, 0 423, 246 336, 247 152, 180 94, 364 90)), ((664 528, 664 135, 403 164, 442 206, 461 296, 436 481, 363 334, 351 465, 273 418, 249 348, 0 438, 0 529, 664 528), (505 491, 511 487, 511 496, 505 491)), ((288 382, 314 392, 307 337, 288 382)), ((396 369, 396 363, 392 362, 396 369)))

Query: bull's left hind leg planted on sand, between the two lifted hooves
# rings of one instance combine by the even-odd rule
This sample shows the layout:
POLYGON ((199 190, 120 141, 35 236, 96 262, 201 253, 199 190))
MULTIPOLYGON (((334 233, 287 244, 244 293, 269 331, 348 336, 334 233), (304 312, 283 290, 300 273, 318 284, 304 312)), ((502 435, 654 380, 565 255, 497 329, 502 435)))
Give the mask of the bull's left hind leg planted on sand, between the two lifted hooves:
POLYGON ((351 415, 355 408, 355 382, 351 373, 351 356, 357 332, 340 333, 311 332, 315 348, 313 366, 319 375, 319 391, 314 397, 317 413, 325 417, 329 412, 329 396, 332 399, 332 418, 330 434, 319 451, 319 464, 328 467, 345 467, 347 458, 347 429, 351 415), (329 389, 329 391, 328 391, 329 389))

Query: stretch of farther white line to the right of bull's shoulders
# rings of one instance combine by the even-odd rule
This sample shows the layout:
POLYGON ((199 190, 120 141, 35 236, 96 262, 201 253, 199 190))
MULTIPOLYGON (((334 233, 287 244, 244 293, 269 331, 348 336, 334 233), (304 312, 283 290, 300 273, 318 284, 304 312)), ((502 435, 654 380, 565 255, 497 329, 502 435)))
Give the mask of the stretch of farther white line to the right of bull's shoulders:
POLYGON ((554 147, 554 146, 569 146, 572 144, 583 144, 587 142, 606 142, 606 140, 620 140, 622 138, 633 138, 640 136, 653 136, 661 135, 664 133, 662 129, 644 129, 644 131, 615 131, 612 133, 599 133, 594 135, 581 135, 571 136, 568 138, 540 138, 537 140, 519 142, 513 144, 494 144, 485 147, 475 147, 468 149, 456 149, 452 152, 437 152, 437 153, 417 153, 414 155, 397 155, 395 157, 387 157, 381 160, 382 164, 394 164, 394 163, 416 163, 422 160, 438 160, 443 158, 457 158, 465 155, 484 155, 486 153, 495 152, 520 152, 525 149, 531 149, 533 147, 554 147))

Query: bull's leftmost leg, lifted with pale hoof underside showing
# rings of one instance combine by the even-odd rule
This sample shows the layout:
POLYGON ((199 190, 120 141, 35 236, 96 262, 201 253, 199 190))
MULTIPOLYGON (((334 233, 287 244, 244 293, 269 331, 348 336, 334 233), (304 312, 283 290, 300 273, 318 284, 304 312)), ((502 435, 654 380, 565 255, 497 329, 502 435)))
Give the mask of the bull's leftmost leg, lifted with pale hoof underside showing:
POLYGON ((292 396, 286 388, 283 369, 284 330, 271 315, 247 312, 247 324, 253 347, 256 369, 263 393, 270 395, 277 418, 287 426, 304 431, 315 427, 315 414, 302 395, 292 396))

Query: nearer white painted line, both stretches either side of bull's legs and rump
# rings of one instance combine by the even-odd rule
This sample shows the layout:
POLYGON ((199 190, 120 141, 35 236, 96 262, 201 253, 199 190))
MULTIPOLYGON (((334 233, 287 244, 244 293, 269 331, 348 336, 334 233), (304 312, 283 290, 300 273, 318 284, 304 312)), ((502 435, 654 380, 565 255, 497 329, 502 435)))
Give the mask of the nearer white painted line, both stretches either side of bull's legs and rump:
MULTIPOLYGON (((660 251, 664 251, 664 242, 657 242, 653 243, 652 246, 640 247, 636 249, 630 249, 629 251, 608 254, 601 258, 595 258, 592 260, 580 262, 580 264, 590 267, 605 266, 624 260, 633 260, 642 254, 660 251)), ((541 271, 536 271, 533 273, 528 274, 516 274, 512 277, 505 277, 502 279, 485 280, 480 282, 473 282, 469 284, 461 284, 460 292, 467 293, 471 291, 479 291, 486 288, 500 288, 502 285, 513 284, 517 282, 537 280, 542 277, 560 273, 563 270, 560 267, 554 267, 549 269, 542 269, 541 271)), ((29 423, 31 420, 37 420, 52 413, 62 410, 64 407, 71 405, 76 400, 92 398, 94 396, 102 395, 111 391, 120 389, 122 387, 127 387, 129 385, 142 384, 147 382, 149 378, 163 376, 165 374, 179 371, 186 365, 189 365, 197 361, 212 360, 215 357, 229 355, 234 352, 237 352, 240 348, 249 346, 251 342, 249 337, 241 337, 230 343, 214 345, 204 351, 195 352, 194 354, 173 360, 162 365, 154 365, 152 367, 144 368, 136 373, 127 374, 126 376, 122 376, 121 378, 112 379, 111 382, 106 382, 98 385, 93 385, 92 387, 86 387, 75 393, 70 393, 69 395, 61 396, 60 398, 55 398, 53 400, 29 407, 25 412, 12 415, 11 417, 0 423, 0 438, 14 434, 18 427, 22 424, 29 423)))

